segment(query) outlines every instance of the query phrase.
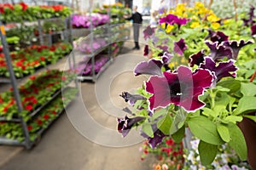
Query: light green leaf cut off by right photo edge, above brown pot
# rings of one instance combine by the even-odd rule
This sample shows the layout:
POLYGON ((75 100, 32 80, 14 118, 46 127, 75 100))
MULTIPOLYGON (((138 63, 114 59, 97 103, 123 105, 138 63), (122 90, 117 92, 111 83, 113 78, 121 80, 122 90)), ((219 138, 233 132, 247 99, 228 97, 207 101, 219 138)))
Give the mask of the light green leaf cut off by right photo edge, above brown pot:
POLYGON ((256 111, 256 97, 244 96, 239 100, 234 113, 235 115, 240 115, 241 113, 248 113, 252 111, 256 111))

